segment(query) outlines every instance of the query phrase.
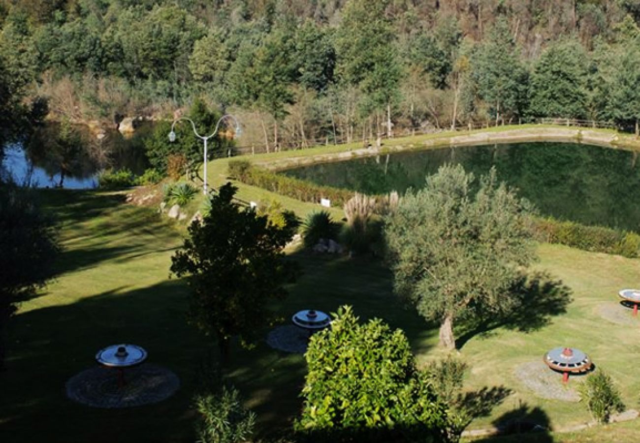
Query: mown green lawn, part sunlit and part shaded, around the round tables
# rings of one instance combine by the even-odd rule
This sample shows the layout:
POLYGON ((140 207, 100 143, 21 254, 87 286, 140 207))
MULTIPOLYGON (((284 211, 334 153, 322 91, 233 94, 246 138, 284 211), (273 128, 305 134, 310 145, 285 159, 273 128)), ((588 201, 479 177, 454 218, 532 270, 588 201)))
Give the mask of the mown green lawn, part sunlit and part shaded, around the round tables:
MULTIPOLYGON (((193 441, 189 403, 195 370, 214 347, 187 325, 188 293, 168 278, 170 257, 182 234, 155 211, 124 204, 121 195, 51 190, 42 191, 42 197, 58 214, 65 252, 56 280, 23 303, 10 325, 10 369, 0 374, 0 441, 42 441, 43 436, 47 442, 193 441), (92 409, 65 398, 68 378, 93 367, 97 350, 123 341, 147 348, 150 362, 175 371, 182 381, 179 392, 159 405, 129 410, 92 409)), ((294 209, 313 207, 298 205, 303 206, 294 209)), ((530 332, 499 328, 467 336, 461 347, 461 358, 471 367, 465 389, 511 391, 471 428, 519 414, 514 411, 522 407, 524 414, 552 428, 587 421, 582 405, 537 398, 514 375, 521 362, 540 360, 546 350, 564 344, 588 351, 619 383, 628 407, 638 407, 640 375, 634 368, 640 355, 640 321, 639 326, 614 325, 596 309, 600 303, 615 303, 621 287, 637 286, 640 260, 557 245, 541 245, 539 253, 536 268, 568 286, 573 302, 565 314, 530 332)), ((436 328, 396 300, 390 273, 380 262, 306 253, 293 257, 301 262, 304 275, 277 307, 282 321, 305 307, 333 311, 349 303, 362 319, 377 316, 403 328, 419 362, 442 355, 436 348, 436 328)), ((525 313, 519 324, 533 321, 534 314, 525 313)), ((298 414, 304 375, 302 356, 279 353, 260 342, 251 351, 236 348, 228 378, 257 412, 260 435, 267 437, 298 414)), ((618 427, 620 435, 640 439, 637 422, 618 427)), ((602 435, 602 441, 614 441, 618 431, 611 429, 584 431, 576 438, 600 441, 602 435)), ((568 436, 549 439, 573 441, 566 440, 568 436)))

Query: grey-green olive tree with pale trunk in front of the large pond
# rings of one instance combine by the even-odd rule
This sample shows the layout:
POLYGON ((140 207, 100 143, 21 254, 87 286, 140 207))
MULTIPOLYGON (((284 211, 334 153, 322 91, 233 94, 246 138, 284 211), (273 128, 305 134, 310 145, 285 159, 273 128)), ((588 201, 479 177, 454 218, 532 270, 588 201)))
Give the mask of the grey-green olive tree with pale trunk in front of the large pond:
POLYGON ((527 202, 497 183, 495 169, 476 187, 461 165, 443 166, 387 218, 396 293, 440 321, 449 349, 456 320, 516 303, 509 289, 534 257, 527 202))

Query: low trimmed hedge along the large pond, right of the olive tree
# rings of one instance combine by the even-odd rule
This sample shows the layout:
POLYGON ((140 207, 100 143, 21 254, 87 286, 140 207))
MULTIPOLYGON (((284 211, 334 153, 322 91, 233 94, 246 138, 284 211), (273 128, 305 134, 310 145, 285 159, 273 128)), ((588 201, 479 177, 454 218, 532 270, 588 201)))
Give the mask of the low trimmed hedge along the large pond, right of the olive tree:
POLYGON ((602 226, 585 226, 573 221, 536 218, 534 237, 546 243, 559 243, 591 252, 640 257, 640 235, 602 226))

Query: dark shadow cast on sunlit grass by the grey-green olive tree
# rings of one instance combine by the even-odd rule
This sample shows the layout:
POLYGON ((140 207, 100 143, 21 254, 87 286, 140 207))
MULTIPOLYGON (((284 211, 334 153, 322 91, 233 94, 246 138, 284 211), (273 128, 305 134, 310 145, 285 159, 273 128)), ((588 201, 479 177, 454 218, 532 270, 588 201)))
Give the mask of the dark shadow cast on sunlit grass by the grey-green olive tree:
POLYGON ((477 335, 486 335, 497 328, 531 332, 548 325, 553 316, 566 312, 572 302, 572 291, 561 280, 554 280, 549 273, 538 271, 523 275, 511 289, 515 299, 513 309, 483 314, 467 321, 465 332, 456 344, 462 348, 477 335))

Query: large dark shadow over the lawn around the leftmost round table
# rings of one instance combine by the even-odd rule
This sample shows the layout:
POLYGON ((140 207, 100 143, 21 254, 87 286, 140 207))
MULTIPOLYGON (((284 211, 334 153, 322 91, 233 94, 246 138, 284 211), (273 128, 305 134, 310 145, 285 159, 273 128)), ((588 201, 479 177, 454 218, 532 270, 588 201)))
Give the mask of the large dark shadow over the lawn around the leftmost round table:
POLYGON ((110 289, 15 316, 8 370, 0 373, 0 441, 193 440, 193 372, 212 343, 187 324, 185 311, 186 288, 173 280, 110 289), (143 346, 149 363, 179 376, 180 389, 172 398, 138 408, 90 408, 68 399, 67 380, 97 366, 97 351, 118 342, 143 346))

